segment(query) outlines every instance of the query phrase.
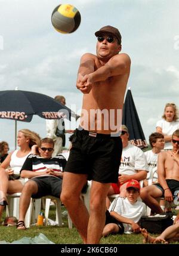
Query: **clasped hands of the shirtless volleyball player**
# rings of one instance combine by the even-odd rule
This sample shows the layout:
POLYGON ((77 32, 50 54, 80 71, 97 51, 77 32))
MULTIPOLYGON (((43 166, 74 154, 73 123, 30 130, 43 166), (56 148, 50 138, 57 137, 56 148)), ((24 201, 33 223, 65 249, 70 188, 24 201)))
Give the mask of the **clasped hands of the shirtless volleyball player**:
POLYGON ((78 88, 78 90, 80 90, 84 94, 88 94, 92 88, 91 74, 88 74, 85 76, 82 76, 81 74, 79 74, 76 82, 76 87, 78 88))

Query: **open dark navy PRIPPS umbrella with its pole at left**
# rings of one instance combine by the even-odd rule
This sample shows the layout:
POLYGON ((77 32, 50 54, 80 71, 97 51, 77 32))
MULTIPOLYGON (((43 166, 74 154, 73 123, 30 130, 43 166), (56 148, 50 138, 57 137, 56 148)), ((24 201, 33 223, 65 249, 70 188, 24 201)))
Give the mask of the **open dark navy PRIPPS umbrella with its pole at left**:
POLYGON ((15 120, 15 148, 17 121, 30 122, 33 115, 45 119, 75 116, 68 107, 45 94, 21 90, 0 91, 0 118, 15 120))

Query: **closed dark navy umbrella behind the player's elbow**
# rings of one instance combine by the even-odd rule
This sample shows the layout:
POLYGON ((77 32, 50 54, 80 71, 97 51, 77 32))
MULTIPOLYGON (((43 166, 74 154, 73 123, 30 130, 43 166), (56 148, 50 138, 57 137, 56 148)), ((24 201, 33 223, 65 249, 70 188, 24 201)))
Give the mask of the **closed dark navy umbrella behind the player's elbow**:
POLYGON ((122 124, 126 125, 128 128, 129 140, 132 144, 140 147, 141 149, 148 147, 143 128, 141 127, 140 120, 138 118, 137 110, 135 109, 130 87, 128 88, 125 97, 122 124))

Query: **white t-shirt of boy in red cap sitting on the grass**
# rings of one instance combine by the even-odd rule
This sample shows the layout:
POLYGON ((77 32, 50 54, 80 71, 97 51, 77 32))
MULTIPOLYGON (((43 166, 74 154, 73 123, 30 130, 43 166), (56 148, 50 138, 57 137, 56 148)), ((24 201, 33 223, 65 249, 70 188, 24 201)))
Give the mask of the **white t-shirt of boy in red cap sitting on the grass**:
MULTIPOLYGON (((109 207, 109 212, 115 211, 119 215, 125 218, 133 220, 135 223, 140 221, 140 218, 147 215, 146 205, 137 201, 130 203, 127 198, 116 198, 109 207)), ((132 233, 132 227, 130 224, 122 223, 124 225, 124 233, 132 233)))

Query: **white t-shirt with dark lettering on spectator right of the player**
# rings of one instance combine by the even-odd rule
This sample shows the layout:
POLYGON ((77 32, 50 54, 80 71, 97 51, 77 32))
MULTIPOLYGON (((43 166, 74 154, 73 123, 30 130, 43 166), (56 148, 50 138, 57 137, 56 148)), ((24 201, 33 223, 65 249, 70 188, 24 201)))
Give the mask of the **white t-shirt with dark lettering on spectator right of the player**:
POLYGON ((119 174, 132 175, 137 173, 137 170, 149 171, 146 155, 137 146, 128 144, 128 146, 122 149, 119 174))

